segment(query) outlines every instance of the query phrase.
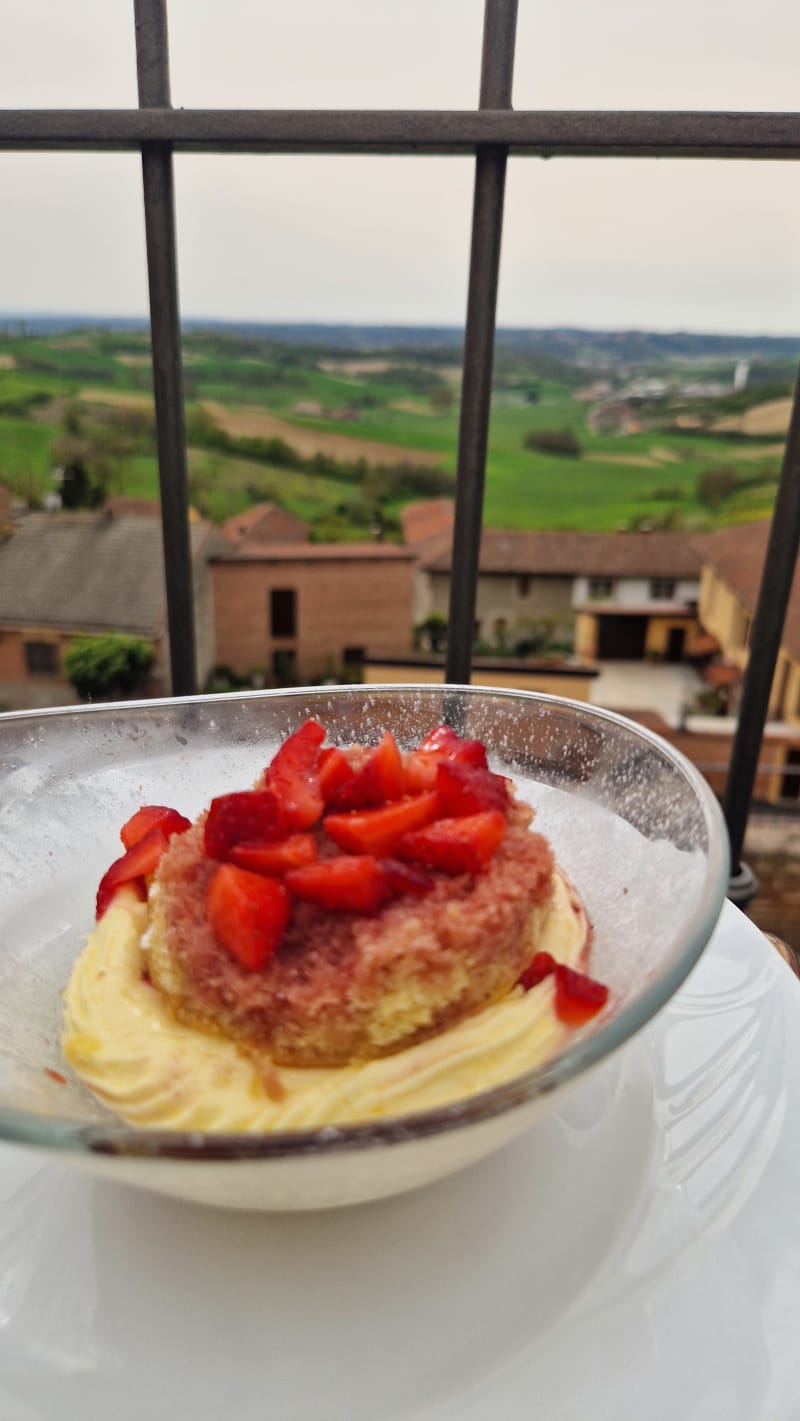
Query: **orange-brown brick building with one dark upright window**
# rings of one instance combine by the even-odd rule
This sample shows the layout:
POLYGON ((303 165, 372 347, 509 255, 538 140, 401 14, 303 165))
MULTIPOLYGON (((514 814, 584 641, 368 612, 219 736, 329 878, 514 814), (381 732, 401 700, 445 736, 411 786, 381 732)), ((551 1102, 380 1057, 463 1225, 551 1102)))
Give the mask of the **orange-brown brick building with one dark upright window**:
POLYGON ((314 682, 360 674, 377 644, 411 647, 411 549, 244 537, 215 554, 212 576, 217 662, 236 675, 314 682))

